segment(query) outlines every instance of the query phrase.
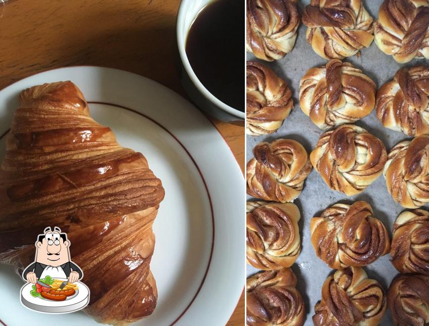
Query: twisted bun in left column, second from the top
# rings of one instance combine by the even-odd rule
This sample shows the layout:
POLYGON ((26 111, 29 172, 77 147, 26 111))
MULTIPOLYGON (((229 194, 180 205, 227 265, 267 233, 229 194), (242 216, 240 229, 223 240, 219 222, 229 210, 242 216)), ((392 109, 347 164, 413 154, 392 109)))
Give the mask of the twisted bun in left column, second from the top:
POLYGON ((276 73, 258 62, 246 63, 246 133, 276 132, 293 108, 292 92, 276 73))

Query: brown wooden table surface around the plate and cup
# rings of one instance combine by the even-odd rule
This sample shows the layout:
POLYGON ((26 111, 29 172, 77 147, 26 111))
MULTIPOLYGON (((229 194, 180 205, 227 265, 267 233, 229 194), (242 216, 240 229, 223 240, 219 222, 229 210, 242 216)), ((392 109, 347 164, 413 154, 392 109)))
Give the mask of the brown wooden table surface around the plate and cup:
MULTIPOLYGON (((138 73, 187 98, 176 65, 179 4, 180 0, 9 0, 0 4, 0 89, 44 70, 96 65, 138 73)), ((210 120, 244 172, 243 124, 210 120)), ((228 325, 243 324, 242 295, 228 325)))

